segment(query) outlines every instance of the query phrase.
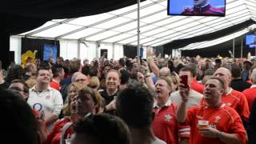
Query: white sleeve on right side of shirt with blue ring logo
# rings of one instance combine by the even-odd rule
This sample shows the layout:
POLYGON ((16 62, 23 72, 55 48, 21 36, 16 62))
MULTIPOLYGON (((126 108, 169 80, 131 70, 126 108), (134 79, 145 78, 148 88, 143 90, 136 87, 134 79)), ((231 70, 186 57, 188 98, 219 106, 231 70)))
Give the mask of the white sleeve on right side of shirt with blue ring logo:
POLYGON ((63 107, 62 94, 58 90, 54 90, 54 110, 53 114, 60 114, 63 107))

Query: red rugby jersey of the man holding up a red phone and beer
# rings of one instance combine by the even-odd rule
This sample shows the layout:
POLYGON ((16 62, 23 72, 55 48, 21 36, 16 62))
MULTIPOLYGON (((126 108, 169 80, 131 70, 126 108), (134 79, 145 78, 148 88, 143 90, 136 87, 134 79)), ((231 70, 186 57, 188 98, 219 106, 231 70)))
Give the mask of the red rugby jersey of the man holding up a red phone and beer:
POLYGON ((218 138, 202 137, 198 133, 198 120, 209 121, 209 126, 236 136, 245 143, 246 130, 238 113, 221 103, 216 108, 209 106, 191 107, 187 112, 186 122, 182 125, 190 125, 190 144, 215 144, 223 143, 218 138))

